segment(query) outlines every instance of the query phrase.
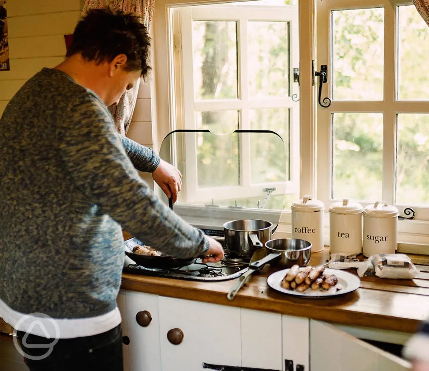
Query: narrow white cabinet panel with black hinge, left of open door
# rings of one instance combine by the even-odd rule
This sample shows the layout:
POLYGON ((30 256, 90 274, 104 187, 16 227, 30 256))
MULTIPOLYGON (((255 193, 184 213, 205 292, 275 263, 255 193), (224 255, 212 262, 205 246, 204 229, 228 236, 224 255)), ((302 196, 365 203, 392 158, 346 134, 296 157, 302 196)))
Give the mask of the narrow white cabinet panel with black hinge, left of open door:
POLYGON ((308 318, 282 315, 282 370, 308 371, 310 369, 309 326, 308 318))

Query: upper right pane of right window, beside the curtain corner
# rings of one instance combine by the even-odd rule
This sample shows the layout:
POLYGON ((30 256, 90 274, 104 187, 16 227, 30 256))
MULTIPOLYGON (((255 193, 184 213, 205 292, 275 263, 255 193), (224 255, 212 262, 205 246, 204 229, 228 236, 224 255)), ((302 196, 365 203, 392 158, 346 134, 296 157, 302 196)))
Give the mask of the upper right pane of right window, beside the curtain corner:
POLYGON ((429 99, 429 27, 414 5, 399 6, 398 99, 429 99))

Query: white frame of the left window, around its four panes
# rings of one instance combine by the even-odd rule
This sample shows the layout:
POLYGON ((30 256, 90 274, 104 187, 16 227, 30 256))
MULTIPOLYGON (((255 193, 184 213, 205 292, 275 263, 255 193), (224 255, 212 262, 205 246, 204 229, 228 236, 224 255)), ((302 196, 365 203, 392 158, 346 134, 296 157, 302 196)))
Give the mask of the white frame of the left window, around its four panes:
MULTIPOLYGON (((250 141, 241 142, 240 151, 240 186, 198 187, 196 144, 192 136, 184 143, 184 159, 179 160, 186 168, 184 173, 186 191, 181 199, 186 202, 203 202, 207 199, 230 199, 255 197, 263 195, 264 188, 277 188, 272 194, 297 193, 299 190, 299 103, 292 100, 292 95, 299 96, 298 84, 293 83, 293 68, 299 66, 298 43, 298 9, 291 6, 233 6, 210 5, 208 7, 188 6, 172 9, 170 13, 171 32, 174 42, 174 66, 172 66, 172 85, 175 89, 175 112, 172 127, 175 129, 196 129, 195 113, 201 111, 236 110, 239 112, 239 129, 249 130, 248 111, 258 108, 287 108, 290 110, 290 181, 251 184, 250 179, 250 141), (182 84, 182 81, 193 81, 193 21, 235 21, 237 22, 238 51, 238 97, 227 100, 194 100, 193 83, 182 84), (248 21, 284 21, 290 23, 290 97, 255 98, 248 97, 247 65, 247 23, 248 21), (186 42, 182 42, 186 40, 186 42), (295 123, 293 125, 293 123, 295 123), (248 155, 247 155, 248 154, 248 155)), ((245 139, 245 134, 241 134, 245 139)))

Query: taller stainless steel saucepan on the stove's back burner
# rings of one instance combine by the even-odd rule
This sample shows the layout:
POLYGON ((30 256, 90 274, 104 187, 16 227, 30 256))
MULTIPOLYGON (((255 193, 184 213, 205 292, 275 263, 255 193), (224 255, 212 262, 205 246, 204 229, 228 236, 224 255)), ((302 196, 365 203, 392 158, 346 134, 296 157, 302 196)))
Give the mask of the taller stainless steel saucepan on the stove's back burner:
POLYGON ((266 220, 233 220, 224 224, 225 247, 229 252, 250 257, 271 239, 272 223, 266 220))

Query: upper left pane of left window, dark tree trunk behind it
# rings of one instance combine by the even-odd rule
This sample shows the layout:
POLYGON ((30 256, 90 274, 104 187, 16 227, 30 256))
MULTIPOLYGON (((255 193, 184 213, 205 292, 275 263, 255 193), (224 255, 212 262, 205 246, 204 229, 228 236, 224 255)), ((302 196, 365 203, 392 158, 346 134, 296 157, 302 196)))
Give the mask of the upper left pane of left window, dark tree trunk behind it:
POLYGON ((196 100, 237 98, 237 23, 193 21, 196 100))

